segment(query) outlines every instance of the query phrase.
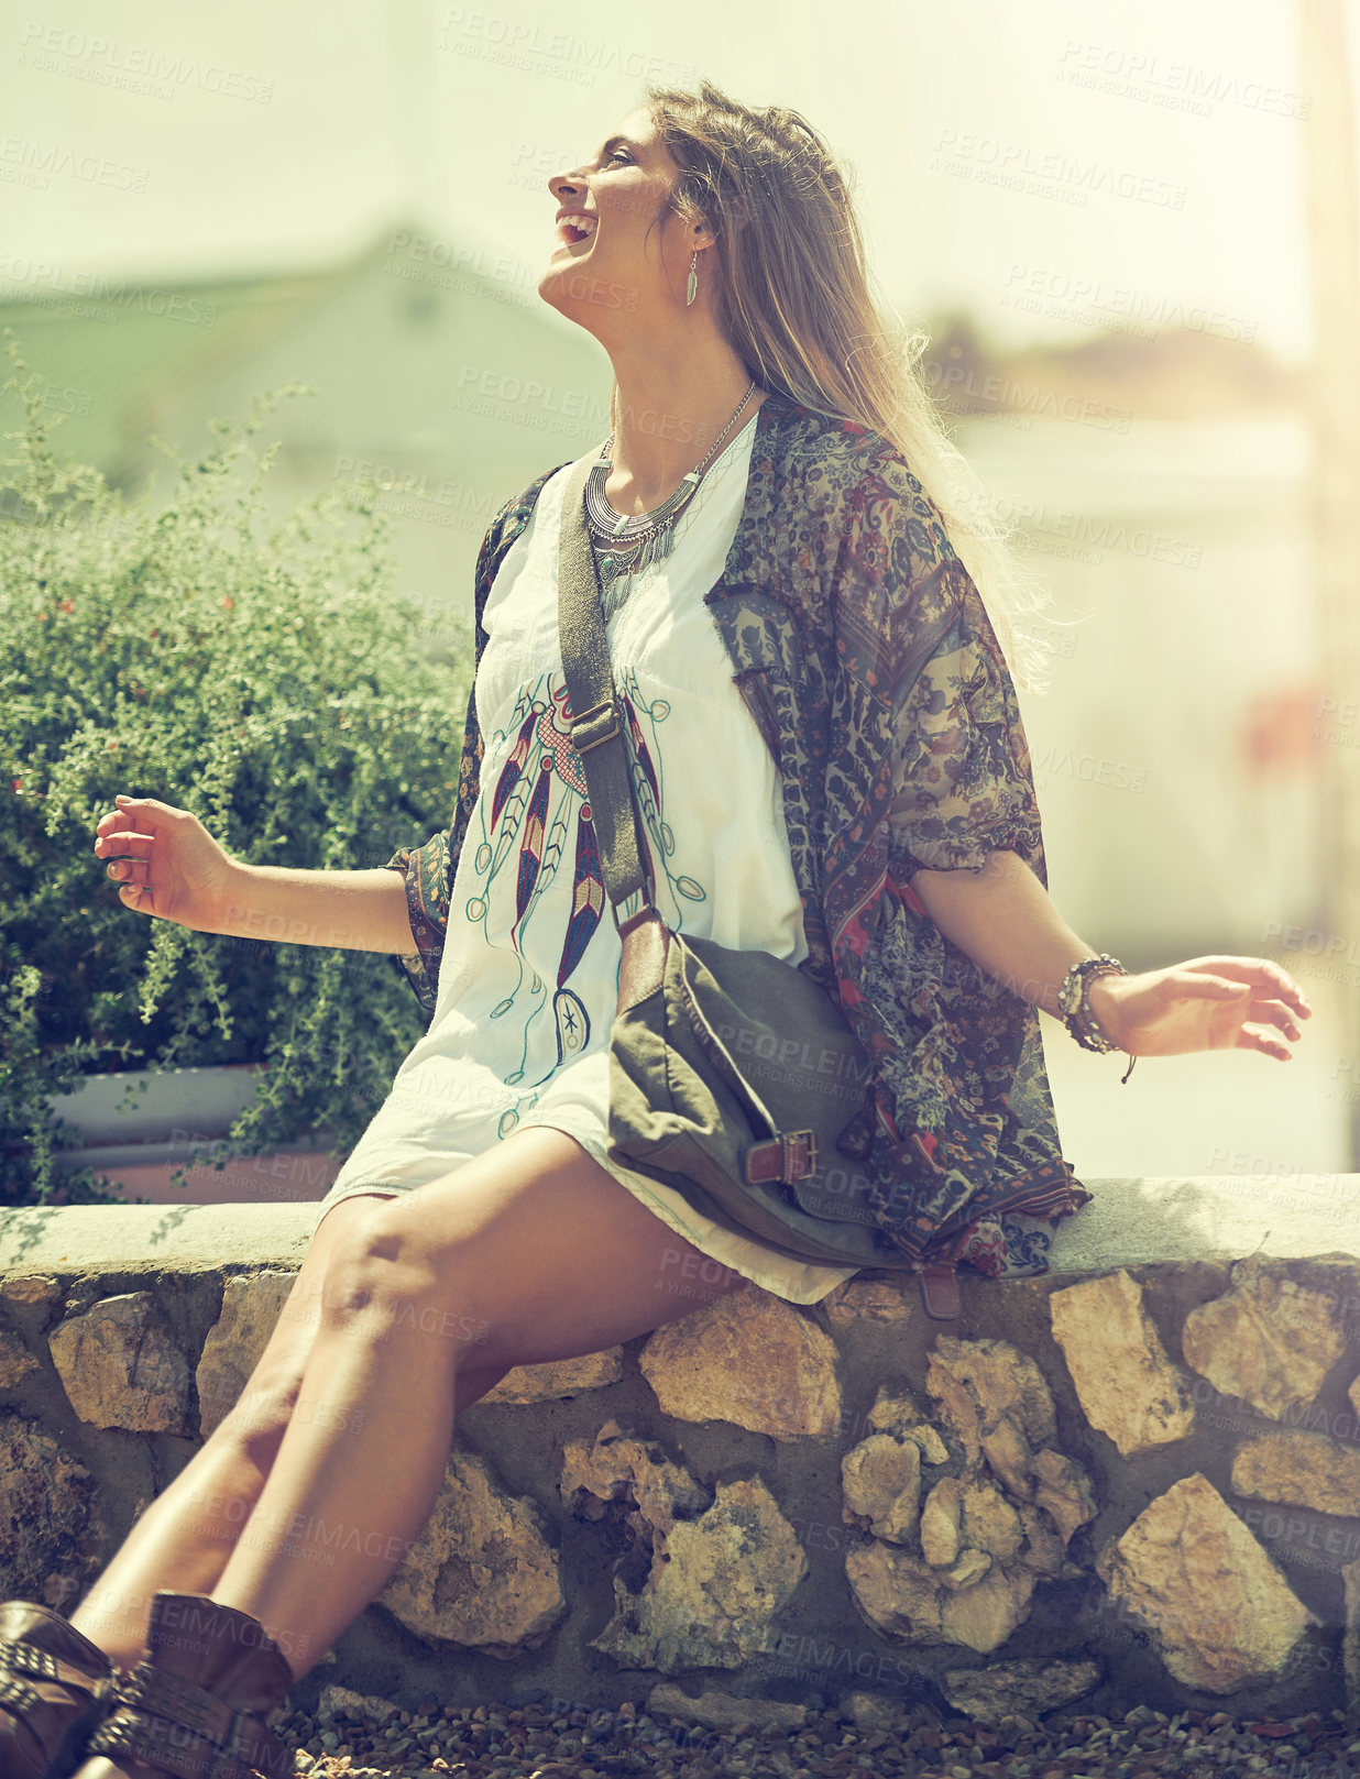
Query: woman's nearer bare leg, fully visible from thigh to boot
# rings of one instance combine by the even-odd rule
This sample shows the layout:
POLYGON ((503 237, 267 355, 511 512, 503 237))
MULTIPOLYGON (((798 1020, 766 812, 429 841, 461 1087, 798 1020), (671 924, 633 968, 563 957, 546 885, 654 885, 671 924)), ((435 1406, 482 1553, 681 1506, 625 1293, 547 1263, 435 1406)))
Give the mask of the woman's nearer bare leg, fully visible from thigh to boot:
POLYGON ((600 1352, 748 1286, 555 1130, 386 1201, 326 1274, 297 1407, 214 1599, 301 1678, 424 1530, 459 1366, 600 1352))

